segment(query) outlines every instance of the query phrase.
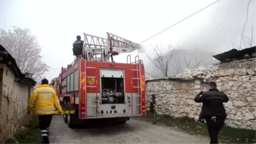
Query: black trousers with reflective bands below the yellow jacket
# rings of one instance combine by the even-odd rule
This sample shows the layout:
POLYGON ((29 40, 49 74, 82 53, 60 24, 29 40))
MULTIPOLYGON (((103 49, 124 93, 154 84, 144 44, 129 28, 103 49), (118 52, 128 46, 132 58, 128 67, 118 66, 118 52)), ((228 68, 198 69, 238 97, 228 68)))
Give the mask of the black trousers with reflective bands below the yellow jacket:
POLYGON ((53 115, 39 115, 39 129, 41 133, 41 144, 49 144, 49 127, 53 115))

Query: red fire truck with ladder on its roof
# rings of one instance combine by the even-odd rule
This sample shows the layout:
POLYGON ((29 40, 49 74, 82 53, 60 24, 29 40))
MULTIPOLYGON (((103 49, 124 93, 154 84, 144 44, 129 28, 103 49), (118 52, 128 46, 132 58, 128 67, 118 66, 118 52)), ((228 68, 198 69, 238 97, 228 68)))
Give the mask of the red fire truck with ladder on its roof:
POLYGON ((63 119, 69 127, 87 119, 125 123, 146 114, 145 70, 139 56, 115 63, 113 56, 140 45, 107 33, 107 39, 84 33, 83 58, 75 60, 55 81, 63 119))

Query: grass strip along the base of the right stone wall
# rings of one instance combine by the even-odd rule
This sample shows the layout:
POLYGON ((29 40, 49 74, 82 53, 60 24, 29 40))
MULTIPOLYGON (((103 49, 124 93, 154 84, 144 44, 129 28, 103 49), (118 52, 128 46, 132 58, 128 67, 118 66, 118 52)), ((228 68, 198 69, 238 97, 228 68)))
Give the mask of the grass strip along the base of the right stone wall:
MULTIPOLYGON (((147 116, 141 117, 145 121, 153 121, 152 113, 148 112, 147 116)), ((175 118, 169 115, 157 115, 156 122, 181 129, 192 135, 204 135, 208 137, 207 126, 205 123, 195 122, 189 117, 175 118)), ((219 133, 220 141, 229 144, 256 143, 256 131, 248 129, 235 129, 231 127, 223 127, 219 133)))

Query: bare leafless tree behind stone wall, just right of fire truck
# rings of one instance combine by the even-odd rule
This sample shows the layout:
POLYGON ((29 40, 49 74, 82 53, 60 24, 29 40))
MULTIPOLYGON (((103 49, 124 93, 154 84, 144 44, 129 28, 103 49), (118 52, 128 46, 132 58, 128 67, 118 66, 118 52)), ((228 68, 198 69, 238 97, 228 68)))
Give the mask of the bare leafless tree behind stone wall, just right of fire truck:
POLYGON ((172 54, 169 53, 168 55, 163 57, 161 45, 160 47, 159 45, 155 45, 152 47, 155 52, 155 59, 152 59, 151 57, 149 57, 149 55, 147 55, 147 57, 155 65, 155 67, 157 67, 157 69, 161 70, 161 73, 163 73, 165 77, 168 77, 169 64, 171 62, 172 54))

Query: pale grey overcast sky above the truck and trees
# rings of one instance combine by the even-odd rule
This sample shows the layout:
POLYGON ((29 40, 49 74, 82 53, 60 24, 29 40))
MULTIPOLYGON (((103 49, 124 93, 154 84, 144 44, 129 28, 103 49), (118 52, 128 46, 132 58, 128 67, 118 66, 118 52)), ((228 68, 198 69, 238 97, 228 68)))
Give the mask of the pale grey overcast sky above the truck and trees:
MULTIPOLYGON (((0 0, 0 28, 29 28, 38 37, 43 59, 51 67, 48 79, 57 77, 61 66, 73 61, 72 43, 83 32, 106 37, 109 31, 137 43, 213 3, 214 0, 0 0)), ((247 0, 221 0, 205 11, 143 43, 185 45, 215 51, 227 51, 245 23, 247 0), (223 28, 217 31, 216 28, 223 28)), ((251 1, 246 33, 256 25, 256 0, 251 1)), ((255 26, 256 29, 256 26, 255 26)), ((254 29, 254 31, 256 31, 254 29)), ((256 34, 255 34, 256 38, 256 34)), ((254 39, 255 39, 254 38, 254 39)), ((255 40, 256 41, 256 40, 255 40)), ((255 42, 254 41, 254 45, 255 42)), ((132 56, 137 53, 133 52, 132 56)), ((126 61, 126 55, 115 57, 126 61), (125 56, 125 59, 123 57, 125 56)), ((139 54, 144 61, 143 53, 139 54)))

